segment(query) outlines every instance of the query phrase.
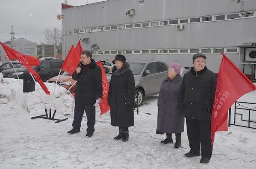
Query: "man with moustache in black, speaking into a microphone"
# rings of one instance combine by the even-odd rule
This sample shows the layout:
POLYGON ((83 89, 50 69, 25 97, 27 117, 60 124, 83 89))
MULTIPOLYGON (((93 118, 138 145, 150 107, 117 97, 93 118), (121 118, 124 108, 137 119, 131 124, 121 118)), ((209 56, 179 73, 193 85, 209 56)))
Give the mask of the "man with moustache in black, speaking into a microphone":
POLYGON ((81 53, 81 62, 72 74, 72 78, 77 80, 75 98, 75 116, 73 129, 68 131, 70 134, 80 132, 81 121, 84 110, 87 116, 86 137, 93 136, 95 125, 95 106, 96 100, 102 102, 102 74, 101 68, 92 58, 90 51, 81 53))

